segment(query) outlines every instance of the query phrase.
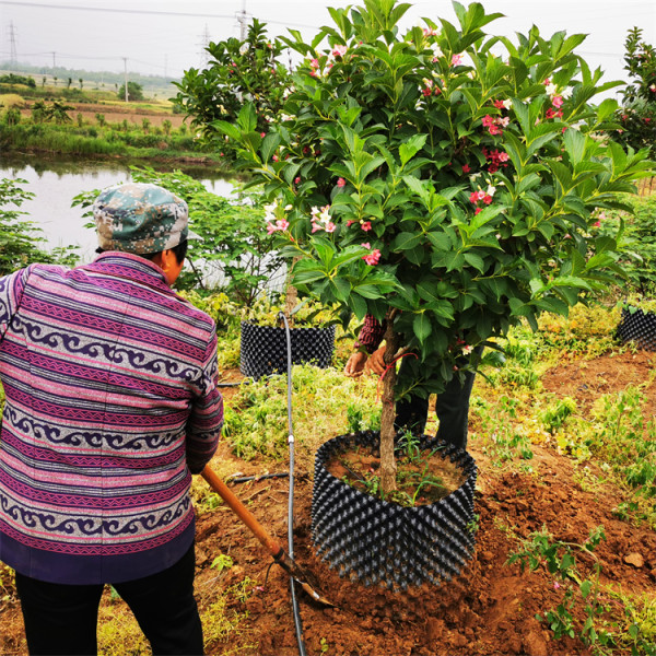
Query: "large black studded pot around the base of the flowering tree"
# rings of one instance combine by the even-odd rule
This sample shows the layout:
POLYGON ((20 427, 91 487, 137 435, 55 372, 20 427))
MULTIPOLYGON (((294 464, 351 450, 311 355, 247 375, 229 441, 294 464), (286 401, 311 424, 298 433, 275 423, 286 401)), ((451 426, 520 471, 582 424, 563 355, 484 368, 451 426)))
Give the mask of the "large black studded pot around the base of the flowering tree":
POLYGON ((335 478, 326 466, 333 456, 364 446, 379 447, 379 433, 340 435, 316 454, 312 537, 317 553, 340 576, 365 586, 403 590, 425 582, 440 585, 460 573, 475 548, 473 492, 477 466, 465 450, 424 435, 421 448, 449 458, 465 482, 448 496, 424 506, 403 507, 375 499, 335 478))

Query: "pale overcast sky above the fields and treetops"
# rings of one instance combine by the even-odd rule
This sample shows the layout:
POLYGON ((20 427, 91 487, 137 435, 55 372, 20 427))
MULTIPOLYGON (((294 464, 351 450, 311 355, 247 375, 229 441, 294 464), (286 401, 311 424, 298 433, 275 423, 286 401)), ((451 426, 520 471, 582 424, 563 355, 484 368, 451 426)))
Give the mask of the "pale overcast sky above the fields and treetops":
MULTIPOLYGON (((421 17, 455 22, 449 0, 417 0, 402 26, 421 17)), ((468 0, 462 0, 468 4, 468 0)), ((269 34, 289 27, 306 36, 330 24, 327 7, 340 0, 0 0, 0 60, 12 54, 37 66, 130 71, 179 77, 204 61, 203 46, 239 35, 237 15, 246 11, 268 24, 269 34)), ((588 34, 577 52, 605 79, 625 79, 624 39, 634 26, 656 46, 656 0, 488 0, 488 12, 506 17, 487 32, 513 36, 537 25, 543 36, 565 30, 588 34)))

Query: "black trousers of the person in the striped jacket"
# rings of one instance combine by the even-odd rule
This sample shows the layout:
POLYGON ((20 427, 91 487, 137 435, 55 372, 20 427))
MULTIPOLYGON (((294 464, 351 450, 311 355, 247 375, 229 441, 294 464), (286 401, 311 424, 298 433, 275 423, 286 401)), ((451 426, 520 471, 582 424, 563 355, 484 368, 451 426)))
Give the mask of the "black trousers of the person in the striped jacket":
MULTIPOLYGON (((175 564, 151 576, 114 584, 128 604, 154 655, 203 654, 194 598, 194 546, 175 564)), ((16 572, 31 656, 97 654, 98 606, 104 585, 46 583, 16 572)))

